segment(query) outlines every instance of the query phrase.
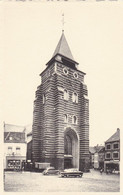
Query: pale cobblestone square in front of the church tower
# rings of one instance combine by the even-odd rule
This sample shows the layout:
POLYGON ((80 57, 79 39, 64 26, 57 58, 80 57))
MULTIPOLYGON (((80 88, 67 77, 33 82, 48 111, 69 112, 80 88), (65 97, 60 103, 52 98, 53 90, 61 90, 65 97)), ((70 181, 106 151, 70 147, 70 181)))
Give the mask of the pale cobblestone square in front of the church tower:
POLYGON ((44 176, 35 172, 6 172, 4 190, 8 192, 119 192, 120 175, 91 170, 82 178, 44 176))

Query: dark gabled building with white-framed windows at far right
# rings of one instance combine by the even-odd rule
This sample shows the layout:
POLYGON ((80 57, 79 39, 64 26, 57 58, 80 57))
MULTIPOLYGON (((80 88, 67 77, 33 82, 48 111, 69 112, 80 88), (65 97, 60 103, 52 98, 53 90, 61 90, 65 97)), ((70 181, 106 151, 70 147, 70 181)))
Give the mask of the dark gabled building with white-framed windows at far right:
POLYGON ((120 171, 120 129, 105 142, 104 171, 120 171))

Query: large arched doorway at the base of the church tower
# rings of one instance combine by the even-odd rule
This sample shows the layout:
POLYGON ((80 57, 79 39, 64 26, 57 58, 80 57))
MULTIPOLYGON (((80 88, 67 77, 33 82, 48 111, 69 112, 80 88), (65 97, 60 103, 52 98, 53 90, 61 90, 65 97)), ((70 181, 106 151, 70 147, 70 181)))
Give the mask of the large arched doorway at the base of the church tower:
POLYGON ((67 168, 79 168, 79 140, 71 128, 64 132, 64 169, 67 168))

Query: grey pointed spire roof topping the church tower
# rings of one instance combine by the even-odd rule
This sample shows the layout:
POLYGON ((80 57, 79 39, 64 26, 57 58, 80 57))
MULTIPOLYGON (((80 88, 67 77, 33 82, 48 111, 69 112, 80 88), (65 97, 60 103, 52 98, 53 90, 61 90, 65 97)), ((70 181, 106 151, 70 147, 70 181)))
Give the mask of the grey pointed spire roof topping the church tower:
POLYGON ((70 48, 69 48, 69 45, 66 41, 64 32, 62 32, 61 38, 60 38, 58 45, 54 51, 53 57, 56 54, 61 54, 62 56, 65 56, 65 57, 74 61, 73 55, 72 55, 70 48))

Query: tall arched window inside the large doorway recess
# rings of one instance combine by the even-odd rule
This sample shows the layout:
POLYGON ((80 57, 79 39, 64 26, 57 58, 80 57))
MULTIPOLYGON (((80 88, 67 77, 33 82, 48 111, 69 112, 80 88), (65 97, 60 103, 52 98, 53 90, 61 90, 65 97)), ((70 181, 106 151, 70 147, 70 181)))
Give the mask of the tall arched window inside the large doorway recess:
POLYGON ((66 135, 64 142, 65 142, 64 143, 65 144, 64 153, 67 155, 72 155, 72 139, 71 139, 71 137, 69 135, 66 135))

